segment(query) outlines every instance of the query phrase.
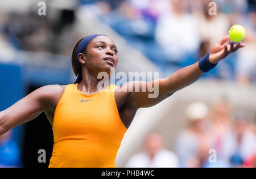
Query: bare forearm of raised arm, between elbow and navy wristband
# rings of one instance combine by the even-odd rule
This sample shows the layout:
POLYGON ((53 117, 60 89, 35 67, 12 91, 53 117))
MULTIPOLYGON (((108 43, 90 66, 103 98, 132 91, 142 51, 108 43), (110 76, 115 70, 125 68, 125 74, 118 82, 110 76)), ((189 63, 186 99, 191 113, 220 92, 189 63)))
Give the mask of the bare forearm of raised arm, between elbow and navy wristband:
POLYGON ((167 79, 167 91, 175 92, 196 82, 204 72, 199 67, 199 62, 177 70, 167 79))

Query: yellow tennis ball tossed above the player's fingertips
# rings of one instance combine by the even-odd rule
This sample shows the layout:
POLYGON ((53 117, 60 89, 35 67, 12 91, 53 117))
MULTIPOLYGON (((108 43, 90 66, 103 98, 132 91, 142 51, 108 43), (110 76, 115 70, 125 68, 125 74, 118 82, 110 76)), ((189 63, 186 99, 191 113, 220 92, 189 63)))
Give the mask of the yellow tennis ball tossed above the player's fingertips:
POLYGON ((229 29, 229 38, 234 42, 240 42, 245 38, 245 28, 242 25, 233 25, 229 29))

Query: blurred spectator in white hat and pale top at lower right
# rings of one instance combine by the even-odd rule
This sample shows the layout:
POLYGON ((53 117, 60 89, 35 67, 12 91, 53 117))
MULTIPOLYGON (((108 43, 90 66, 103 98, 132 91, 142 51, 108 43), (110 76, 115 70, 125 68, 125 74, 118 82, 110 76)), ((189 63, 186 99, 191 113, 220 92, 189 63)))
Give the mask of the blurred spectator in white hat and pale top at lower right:
MULTIPOLYGON (((201 167, 205 156, 201 155, 200 151, 205 151, 204 147, 208 148, 207 145, 200 145, 208 138, 204 131, 208 107, 202 102, 193 103, 188 106, 185 116, 188 119, 188 127, 181 132, 176 140, 176 152, 181 167, 201 167)), ((208 155, 208 152, 206 154, 208 155)))

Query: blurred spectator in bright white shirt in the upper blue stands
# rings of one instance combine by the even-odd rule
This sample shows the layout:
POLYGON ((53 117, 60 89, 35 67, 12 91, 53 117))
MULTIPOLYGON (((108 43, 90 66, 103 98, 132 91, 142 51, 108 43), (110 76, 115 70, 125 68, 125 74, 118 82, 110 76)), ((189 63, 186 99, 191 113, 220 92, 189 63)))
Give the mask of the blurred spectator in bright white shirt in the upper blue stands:
POLYGON ((185 0, 171 0, 171 8, 172 13, 160 17, 156 24, 156 41, 170 61, 192 63, 200 45, 196 20, 188 14, 188 3, 185 0))

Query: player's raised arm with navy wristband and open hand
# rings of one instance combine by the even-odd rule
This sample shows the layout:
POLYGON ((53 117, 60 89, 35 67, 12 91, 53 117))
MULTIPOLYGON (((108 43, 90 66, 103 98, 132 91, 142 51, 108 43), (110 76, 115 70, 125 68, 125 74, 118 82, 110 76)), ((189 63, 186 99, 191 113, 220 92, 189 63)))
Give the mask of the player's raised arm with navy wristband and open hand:
POLYGON ((230 53, 245 46, 245 44, 238 43, 234 45, 233 42, 227 45, 226 41, 229 40, 229 36, 226 36, 217 44, 213 45, 207 56, 205 56, 200 62, 196 62, 193 65, 184 67, 183 69, 177 70, 169 78, 153 80, 151 82, 129 82, 124 84, 119 91, 133 91, 133 92, 120 92, 119 95, 126 95, 127 100, 134 104, 136 108, 143 108, 158 104, 160 101, 166 99, 171 93, 181 90, 184 87, 189 86, 197 79, 200 78, 204 72, 209 69, 209 66, 216 65, 221 59, 224 59, 230 53), (152 87, 154 90, 158 90, 158 96, 149 97, 150 90, 147 88, 146 92, 142 92, 144 87, 152 87), (135 89, 139 88, 139 92, 135 89))

